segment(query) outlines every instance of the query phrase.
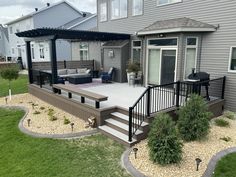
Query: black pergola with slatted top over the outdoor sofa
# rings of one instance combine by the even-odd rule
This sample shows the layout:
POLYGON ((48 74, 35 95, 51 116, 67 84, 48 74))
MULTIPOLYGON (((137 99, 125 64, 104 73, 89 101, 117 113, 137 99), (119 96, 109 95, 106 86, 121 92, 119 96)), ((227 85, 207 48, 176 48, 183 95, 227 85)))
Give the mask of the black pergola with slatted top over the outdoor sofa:
POLYGON ((56 40, 76 40, 76 41, 113 41, 113 40, 129 40, 129 34, 107 33, 97 31, 81 31, 67 29, 38 28, 28 31, 16 33, 18 37, 24 37, 26 41, 26 52, 29 72, 29 83, 33 83, 32 57, 30 43, 32 41, 48 40, 51 53, 51 70, 52 84, 57 83, 57 54, 56 40))

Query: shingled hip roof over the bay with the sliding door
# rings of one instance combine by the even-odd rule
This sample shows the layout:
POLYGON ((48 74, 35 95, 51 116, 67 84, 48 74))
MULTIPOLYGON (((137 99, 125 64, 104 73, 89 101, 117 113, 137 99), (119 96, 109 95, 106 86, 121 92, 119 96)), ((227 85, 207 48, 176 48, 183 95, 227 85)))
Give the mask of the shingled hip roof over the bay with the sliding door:
POLYGON ((138 31, 138 35, 174 33, 174 32, 211 32, 216 27, 190 18, 176 18, 156 21, 150 26, 138 31))

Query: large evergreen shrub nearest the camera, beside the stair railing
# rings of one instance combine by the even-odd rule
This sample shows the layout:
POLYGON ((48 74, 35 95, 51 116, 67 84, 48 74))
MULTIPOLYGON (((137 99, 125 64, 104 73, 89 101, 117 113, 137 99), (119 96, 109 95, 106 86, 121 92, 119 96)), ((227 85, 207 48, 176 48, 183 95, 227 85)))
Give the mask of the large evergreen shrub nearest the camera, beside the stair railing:
POLYGON ((150 159, 155 163, 166 165, 181 161, 183 144, 168 114, 160 114, 153 120, 148 146, 150 159))

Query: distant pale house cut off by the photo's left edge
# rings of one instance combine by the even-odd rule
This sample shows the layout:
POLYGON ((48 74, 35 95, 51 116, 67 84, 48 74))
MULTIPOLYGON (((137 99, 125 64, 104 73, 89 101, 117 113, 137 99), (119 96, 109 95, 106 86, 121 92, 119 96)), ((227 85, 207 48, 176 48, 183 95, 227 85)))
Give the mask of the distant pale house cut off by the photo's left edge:
POLYGON ((6 60, 9 54, 8 31, 7 28, 0 24, 0 59, 4 58, 6 60))

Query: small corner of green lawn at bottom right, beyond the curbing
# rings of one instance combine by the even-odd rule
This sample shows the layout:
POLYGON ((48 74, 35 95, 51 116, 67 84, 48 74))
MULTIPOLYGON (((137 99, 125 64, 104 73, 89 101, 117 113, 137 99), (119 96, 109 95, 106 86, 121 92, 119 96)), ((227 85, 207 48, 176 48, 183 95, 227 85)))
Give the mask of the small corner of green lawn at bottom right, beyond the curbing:
POLYGON ((223 157, 216 165, 213 177, 236 177, 236 153, 223 157))

